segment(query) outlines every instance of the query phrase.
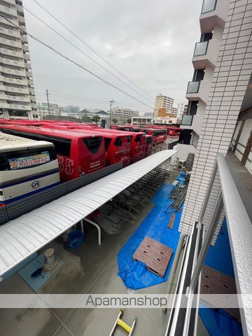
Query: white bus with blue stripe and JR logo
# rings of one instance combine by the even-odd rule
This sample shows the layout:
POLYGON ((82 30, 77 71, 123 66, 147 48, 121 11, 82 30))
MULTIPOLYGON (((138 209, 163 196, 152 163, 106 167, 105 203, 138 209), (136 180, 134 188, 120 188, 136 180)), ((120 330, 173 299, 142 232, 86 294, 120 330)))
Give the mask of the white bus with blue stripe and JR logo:
POLYGON ((58 184, 53 144, 0 132, 0 207, 58 184))

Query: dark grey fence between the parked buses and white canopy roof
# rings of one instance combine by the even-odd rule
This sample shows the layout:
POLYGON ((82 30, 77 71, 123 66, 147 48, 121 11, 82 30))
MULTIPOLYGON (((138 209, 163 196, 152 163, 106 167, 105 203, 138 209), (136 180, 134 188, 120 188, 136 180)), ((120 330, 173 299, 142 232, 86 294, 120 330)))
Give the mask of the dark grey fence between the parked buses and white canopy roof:
POLYGON ((89 183, 102 179, 102 177, 112 174, 122 168, 123 163, 117 163, 116 165, 111 165, 97 170, 97 172, 81 176, 78 179, 64 182, 59 184, 59 186, 42 191, 36 195, 26 197, 23 200, 7 204, 5 207, 0 208, 0 225, 23 214, 27 214, 27 212, 41 207, 46 203, 52 202, 53 200, 71 193, 76 189, 87 186, 89 183))

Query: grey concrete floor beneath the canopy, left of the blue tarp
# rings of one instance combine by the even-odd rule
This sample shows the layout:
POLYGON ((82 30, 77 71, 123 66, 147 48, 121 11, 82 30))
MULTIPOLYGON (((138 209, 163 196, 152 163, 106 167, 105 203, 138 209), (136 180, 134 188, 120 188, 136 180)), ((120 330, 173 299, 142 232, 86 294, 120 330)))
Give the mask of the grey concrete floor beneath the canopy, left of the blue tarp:
MULTIPOLYGON (((174 181, 178 174, 175 171, 169 181, 174 181)), ((39 293, 127 293, 123 281, 117 276, 117 254, 152 207, 151 202, 147 204, 135 221, 122 225, 118 234, 104 233, 101 246, 97 244, 95 228, 89 228, 84 244, 76 251, 64 246, 61 238, 46 246, 55 248, 64 265, 52 274, 39 293)), ((167 282, 135 293, 166 293, 166 290, 167 282)), ((0 293, 34 292, 15 273, 0 283, 0 293)), ((109 335, 117 316, 118 309, 0 309, 1 335, 109 335)), ((160 309, 125 309, 127 323, 131 324, 134 316, 138 316, 135 335, 164 335, 167 315, 160 309)), ((118 329, 115 335, 126 334, 118 329)))

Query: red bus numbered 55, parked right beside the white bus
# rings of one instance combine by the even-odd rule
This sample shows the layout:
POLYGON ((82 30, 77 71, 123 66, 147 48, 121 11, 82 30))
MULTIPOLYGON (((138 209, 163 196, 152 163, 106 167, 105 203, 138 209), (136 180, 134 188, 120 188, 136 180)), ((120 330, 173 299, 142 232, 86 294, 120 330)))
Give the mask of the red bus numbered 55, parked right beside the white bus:
POLYGON ((105 167, 104 137, 100 134, 22 125, 0 125, 0 130, 28 139, 52 142, 59 161, 62 182, 105 167))

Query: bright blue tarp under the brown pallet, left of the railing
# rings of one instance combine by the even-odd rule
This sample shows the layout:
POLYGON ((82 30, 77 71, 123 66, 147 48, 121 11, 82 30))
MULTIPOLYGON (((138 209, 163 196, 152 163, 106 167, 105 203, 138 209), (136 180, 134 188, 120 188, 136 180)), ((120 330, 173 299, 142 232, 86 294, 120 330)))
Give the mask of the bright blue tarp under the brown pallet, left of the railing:
POLYGON ((155 204, 155 207, 153 207, 148 216, 146 216, 144 221, 139 225, 139 228, 118 253, 118 275, 122 278, 127 288, 146 288, 167 281, 168 279, 176 253, 176 246, 179 242, 180 233, 178 229, 181 219, 181 212, 176 212, 174 226, 172 230, 168 228, 169 218, 172 216, 172 213, 166 214, 165 209, 173 202, 171 199, 167 200, 173 188, 174 186, 168 183, 162 185, 158 193, 156 193, 151 200, 151 202, 155 204), (148 271, 141 262, 132 259, 132 255, 146 236, 158 240, 160 243, 174 249, 163 279, 153 274, 153 272, 148 271))

